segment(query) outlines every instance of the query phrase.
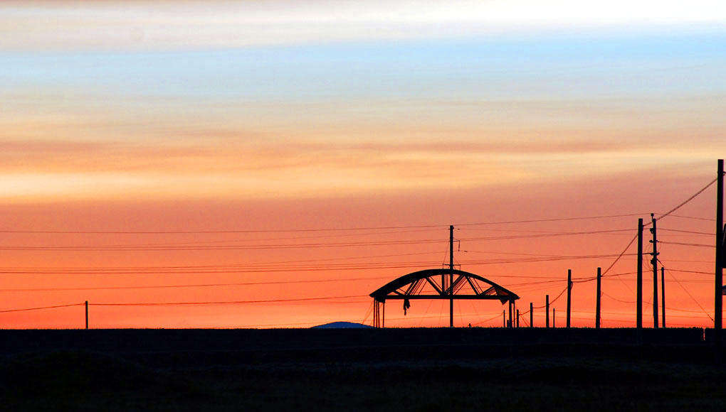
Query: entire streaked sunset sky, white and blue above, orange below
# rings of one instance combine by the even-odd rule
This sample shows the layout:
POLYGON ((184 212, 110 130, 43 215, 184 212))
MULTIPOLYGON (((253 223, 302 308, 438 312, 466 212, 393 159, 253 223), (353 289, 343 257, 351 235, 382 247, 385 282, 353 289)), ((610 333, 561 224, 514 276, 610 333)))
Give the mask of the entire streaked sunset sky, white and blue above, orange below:
MULTIPOLYGON (((0 327, 83 327, 10 311, 86 300, 91 327, 363 321, 449 224, 461 269, 542 306, 714 180, 724 73, 723 1, 4 1, 0 327)), ((713 324, 715 197, 658 222, 674 326, 713 324)), ((635 325, 633 253, 605 327, 635 325)), ((386 326, 448 325, 399 304, 386 326)), ((595 282, 573 311, 594 325, 595 282)))

